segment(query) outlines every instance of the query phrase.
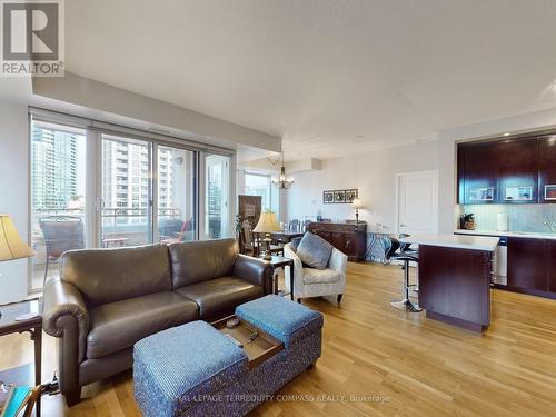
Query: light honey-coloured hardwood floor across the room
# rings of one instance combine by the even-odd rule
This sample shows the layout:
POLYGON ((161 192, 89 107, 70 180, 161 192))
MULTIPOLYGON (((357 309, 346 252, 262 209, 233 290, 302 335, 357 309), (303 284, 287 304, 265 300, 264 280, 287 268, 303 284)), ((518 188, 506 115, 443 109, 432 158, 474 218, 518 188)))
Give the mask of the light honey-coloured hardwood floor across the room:
MULTIPOLYGON (((556 409, 556 301, 493 290, 484 335, 390 307, 398 267, 349 264, 340 306, 304 301, 325 314, 322 357, 254 416, 548 416, 556 409), (320 396, 320 397, 319 397, 320 396), (327 396, 327 397, 326 397, 327 396), (312 400, 311 400, 312 399, 312 400)), ((44 340, 44 376, 56 368, 44 340)), ((0 368, 29 363, 27 336, 0 338, 0 368)), ((67 409, 43 398, 43 416, 139 416, 131 374, 93 384, 67 409)))

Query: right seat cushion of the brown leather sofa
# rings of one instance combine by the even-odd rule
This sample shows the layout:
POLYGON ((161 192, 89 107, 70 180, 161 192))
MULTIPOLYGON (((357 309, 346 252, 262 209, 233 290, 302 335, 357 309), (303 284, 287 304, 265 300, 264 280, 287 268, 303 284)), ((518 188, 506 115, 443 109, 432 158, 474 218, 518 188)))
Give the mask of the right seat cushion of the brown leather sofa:
POLYGON ((199 305, 201 319, 231 315, 240 304, 264 296, 261 286, 236 277, 210 279, 181 287, 176 292, 199 305))

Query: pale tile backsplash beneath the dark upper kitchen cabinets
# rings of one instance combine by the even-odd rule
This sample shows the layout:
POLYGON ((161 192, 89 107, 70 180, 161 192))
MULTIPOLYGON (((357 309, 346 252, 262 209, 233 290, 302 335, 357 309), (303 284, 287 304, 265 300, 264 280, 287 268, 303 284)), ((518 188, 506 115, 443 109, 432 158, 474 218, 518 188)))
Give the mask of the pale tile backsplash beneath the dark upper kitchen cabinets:
POLYGON ((545 221, 556 221, 556 205, 460 205, 460 214, 475 215, 477 230, 496 230, 496 215, 509 218, 509 231, 550 231, 545 221))

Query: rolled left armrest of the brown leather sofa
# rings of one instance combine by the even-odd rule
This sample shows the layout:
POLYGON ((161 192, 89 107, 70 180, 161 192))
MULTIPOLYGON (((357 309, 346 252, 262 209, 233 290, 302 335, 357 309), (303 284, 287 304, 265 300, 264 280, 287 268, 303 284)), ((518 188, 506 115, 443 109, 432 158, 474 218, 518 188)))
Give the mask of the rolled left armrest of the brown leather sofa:
POLYGON ((83 360, 89 334, 89 314, 76 286, 63 282, 60 278, 47 281, 42 326, 48 335, 67 339, 63 346, 75 345, 78 363, 83 360))

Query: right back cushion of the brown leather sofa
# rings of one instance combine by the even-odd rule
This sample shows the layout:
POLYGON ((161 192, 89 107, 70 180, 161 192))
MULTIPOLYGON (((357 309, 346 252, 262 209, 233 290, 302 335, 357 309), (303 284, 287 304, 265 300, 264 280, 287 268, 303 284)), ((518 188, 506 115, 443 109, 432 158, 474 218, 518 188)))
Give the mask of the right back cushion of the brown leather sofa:
POLYGON ((179 242, 168 248, 173 288, 230 276, 239 254, 236 239, 179 242))

